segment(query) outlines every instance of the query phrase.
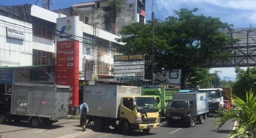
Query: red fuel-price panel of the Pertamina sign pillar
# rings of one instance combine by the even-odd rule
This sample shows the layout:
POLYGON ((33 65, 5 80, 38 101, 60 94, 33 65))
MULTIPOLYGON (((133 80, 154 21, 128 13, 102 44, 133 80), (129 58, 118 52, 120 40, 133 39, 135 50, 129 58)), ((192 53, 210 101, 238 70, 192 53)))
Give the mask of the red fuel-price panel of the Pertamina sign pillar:
POLYGON ((70 86, 70 105, 79 101, 79 42, 57 42, 56 83, 70 86))

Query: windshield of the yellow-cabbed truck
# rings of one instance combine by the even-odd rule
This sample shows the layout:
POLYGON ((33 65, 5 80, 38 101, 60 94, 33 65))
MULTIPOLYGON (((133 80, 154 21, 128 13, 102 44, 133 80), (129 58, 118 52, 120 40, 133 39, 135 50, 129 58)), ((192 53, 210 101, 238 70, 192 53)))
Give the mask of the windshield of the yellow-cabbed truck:
POLYGON ((136 109, 139 112, 157 112, 158 108, 153 97, 135 97, 136 109))

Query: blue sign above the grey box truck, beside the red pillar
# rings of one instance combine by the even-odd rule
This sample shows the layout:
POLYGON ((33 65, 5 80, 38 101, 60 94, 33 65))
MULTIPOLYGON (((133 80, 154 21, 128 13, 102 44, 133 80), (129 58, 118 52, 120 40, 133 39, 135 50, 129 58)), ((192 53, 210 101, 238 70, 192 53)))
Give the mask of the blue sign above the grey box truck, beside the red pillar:
POLYGON ((48 81, 52 75, 52 68, 32 68, 30 69, 30 81, 48 81))

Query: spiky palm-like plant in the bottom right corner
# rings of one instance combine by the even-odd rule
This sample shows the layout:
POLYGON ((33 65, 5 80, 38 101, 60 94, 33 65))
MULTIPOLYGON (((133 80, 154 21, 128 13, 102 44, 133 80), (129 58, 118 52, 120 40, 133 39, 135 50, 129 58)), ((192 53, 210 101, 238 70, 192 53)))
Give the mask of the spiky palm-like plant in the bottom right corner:
POLYGON ((219 110, 223 116, 214 123, 215 129, 218 130, 226 121, 233 119, 239 122, 239 126, 230 132, 230 137, 256 138, 256 94, 250 90, 246 93, 246 100, 237 96, 234 96, 234 100, 237 110, 231 110, 230 113, 219 110))

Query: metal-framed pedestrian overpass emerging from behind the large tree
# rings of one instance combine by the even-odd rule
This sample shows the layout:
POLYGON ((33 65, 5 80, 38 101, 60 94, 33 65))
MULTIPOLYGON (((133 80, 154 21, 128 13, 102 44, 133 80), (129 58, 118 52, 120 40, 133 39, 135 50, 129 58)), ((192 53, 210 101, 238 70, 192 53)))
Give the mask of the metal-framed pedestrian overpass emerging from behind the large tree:
POLYGON ((256 28, 222 32, 232 38, 240 39, 236 44, 225 45, 219 49, 221 52, 230 53, 230 56, 227 58, 202 59, 195 65, 200 65, 202 68, 256 66, 256 28))

